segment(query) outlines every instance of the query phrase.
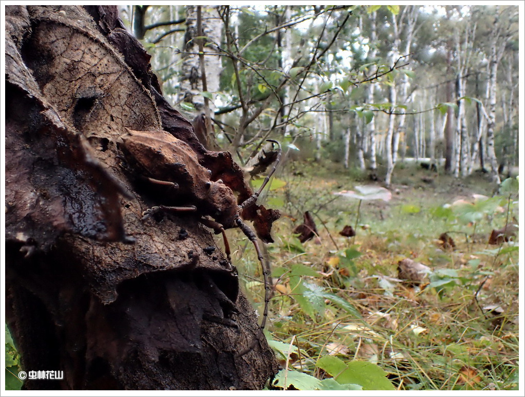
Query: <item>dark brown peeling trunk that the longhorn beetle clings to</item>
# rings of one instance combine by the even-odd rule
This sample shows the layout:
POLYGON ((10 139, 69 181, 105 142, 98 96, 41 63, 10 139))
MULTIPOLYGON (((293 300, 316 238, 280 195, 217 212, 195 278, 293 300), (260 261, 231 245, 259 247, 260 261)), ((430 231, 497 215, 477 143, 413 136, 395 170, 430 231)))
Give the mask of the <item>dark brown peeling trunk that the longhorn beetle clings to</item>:
MULTIPOLYGON (((25 370, 64 371, 24 388, 261 388, 277 363, 265 340, 236 356, 258 326, 235 267, 204 250, 202 214, 141 220, 158 202, 121 166, 125 128, 168 131, 250 195, 164 100, 116 7, 7 6, 6 318, 25 370)), ((257 209, 269 240, 260 217, 278 215, 257 209)))

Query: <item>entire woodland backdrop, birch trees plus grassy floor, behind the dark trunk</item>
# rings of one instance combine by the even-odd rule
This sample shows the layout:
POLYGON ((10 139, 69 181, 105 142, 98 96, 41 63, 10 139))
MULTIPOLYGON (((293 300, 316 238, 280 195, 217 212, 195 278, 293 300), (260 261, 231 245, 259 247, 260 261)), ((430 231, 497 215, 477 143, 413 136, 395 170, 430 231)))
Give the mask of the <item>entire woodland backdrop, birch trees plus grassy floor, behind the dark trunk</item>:
MULTIPOLYGON (((261 197, 282 213, 268 388, 519 389, 518 6, 119 11, 164 97, 253 187, 265 140, 282 145, 261 197)), ((262 313, 253 245, 228 236, 262 313)))

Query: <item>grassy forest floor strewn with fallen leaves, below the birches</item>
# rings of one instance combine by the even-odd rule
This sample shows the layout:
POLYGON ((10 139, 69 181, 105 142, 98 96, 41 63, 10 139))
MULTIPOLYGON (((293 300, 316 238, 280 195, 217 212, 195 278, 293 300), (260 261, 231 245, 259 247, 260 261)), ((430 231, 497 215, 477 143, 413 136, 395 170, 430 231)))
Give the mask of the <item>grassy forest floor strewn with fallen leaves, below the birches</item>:
MULTIPOLYGON (((335 165, 296 161, 277 178, 265 202, 283 213, 266 247, 275 285, 267 337, 283 368, 274 385, 517 390, 518 245, 488 244, 491 230, 517 223, 517 192, 493 196, 485 174, 455 179, 415 165, 397 166, 387 201, 334 195, 381 186, 335 165), (301 243, 293 229, 304 211, 319 237, 301 243), (345 225, 356 236, 341 236, 345 225), (398 274, 405 259, 424 269, 415 283, 398 274), (353 371, 356 363, 385 372, 353 371)), ((251 251, 243 241, 235 264, 261 313, 251 251)))

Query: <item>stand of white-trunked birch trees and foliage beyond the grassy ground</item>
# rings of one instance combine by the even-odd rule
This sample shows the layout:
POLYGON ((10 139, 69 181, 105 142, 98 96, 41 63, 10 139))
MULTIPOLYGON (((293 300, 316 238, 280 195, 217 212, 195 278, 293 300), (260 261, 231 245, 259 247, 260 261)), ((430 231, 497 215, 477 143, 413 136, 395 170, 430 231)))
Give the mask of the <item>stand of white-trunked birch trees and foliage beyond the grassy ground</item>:
POLYGON ((214 144, 241 163, 272 137, 300 158, 380 169, 386 186, 407 157, 497 182, 498 167, 518 164, 516 6, 129 6, 122 16, 164 94, 191 119, 208 111, 214 144))

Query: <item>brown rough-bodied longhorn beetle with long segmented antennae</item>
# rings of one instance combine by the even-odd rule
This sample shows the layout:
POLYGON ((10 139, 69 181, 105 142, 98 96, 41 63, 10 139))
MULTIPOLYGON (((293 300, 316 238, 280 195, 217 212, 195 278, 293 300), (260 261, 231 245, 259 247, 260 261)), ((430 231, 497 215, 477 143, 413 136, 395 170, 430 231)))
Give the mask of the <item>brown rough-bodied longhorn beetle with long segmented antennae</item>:
POLYGON ((270 286, 268 272, 257 242, 257 236, 243 222, 240 214, 243 209, 256 203, 257 198, 276 171, 282 152, 281 145, 276 140, 267 139, 269 142, 274 142, 278 147, 274 166, 260 188, 245 201, 237 205, 237 198, 232 189, 226 186, 222 180, 210 180, 210 171, 198 163, 195 152, 186 142, 175 138, 166 131, 127 130, 128 134, 122 135, 118 140, 118 144, 130 165, 137 167, 140 174, 151 184, 167 188, 168 193, 163 198, 166 204, 181 201, 195 204, 186 207, 155 206, 144 211, 143 219, 159 211, 192 211, 201 213, 204 216, 211 216, 214 220, 201 218, 200 221, 203 225, 214 229, 216 234, 222 233, 228 260, 230 259, 230 248, 224 232, 225 229, 238 227, 253 243, 260 262, 262 277, 264 278, 265 303, 257 337, 247 349, 238 354, 239 356, 245 355, 255 347, 262 337, 268 317, 270 286))

